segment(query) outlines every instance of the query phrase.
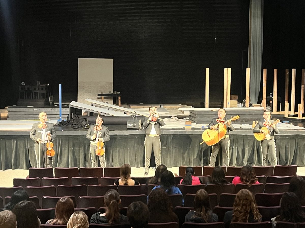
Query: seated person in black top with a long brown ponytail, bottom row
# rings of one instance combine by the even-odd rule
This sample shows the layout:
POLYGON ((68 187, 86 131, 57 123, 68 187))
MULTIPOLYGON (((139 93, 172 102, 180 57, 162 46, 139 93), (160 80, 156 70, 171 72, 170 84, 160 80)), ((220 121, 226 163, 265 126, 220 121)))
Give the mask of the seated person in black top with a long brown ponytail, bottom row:
POLYGON ((105 194, 104 205, 106 207, 106 213, 97 212, 92 215, 90 223, 98 224, 120 224, 128 223, 127 217, 120 214, 119 205, 121 198, 119 193, 114 190, 108 190, 105 194))

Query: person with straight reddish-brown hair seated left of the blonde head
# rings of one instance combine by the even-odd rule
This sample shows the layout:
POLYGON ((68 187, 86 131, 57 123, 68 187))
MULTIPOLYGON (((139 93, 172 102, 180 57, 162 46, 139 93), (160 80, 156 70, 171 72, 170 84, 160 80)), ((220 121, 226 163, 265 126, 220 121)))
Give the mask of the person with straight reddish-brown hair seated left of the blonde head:
POLYGON ((45 224, 66 225, 73 213, 73 200, 68 197, 63 197, 56 203, 55 219, 50 219, 45 224))

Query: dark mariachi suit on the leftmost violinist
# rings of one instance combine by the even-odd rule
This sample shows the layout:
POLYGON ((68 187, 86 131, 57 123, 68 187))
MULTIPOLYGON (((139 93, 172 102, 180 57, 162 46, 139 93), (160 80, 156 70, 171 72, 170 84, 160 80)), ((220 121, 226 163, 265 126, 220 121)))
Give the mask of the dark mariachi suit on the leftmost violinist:
MULTIPOLYGON (((42 139, 43 137, 43 129, 38 127, 39 123, 34 123, 30 132, 30 138, 35 142, 34 144, 34 153, 35 153, 35 162, 34 162, 34 167, 33 168, 44 168, 45 166, 45 161, 44 159, 46 158, 46 142, 40 143, 40 155, 39 153, 39 143, 37 142, 37 139, 42 139), (40 160, 39 160, 40 157, 40 160), (39 161, 38 161, 39 160, 39 161)), ((56 130, 54 128, 53 123, 47 123, 46 122, 46 129, 45 133, 46 136, 48 133, 51 133, 51 140, 54 140, 56 137, 56 130)), ((46 137, 45 137, 46 138, 46 137)), ((47 157, 47 167, 53 167, 53 160, 52 157, 47 157)), ((33 164, 32 164, 33 166, 33 164)))

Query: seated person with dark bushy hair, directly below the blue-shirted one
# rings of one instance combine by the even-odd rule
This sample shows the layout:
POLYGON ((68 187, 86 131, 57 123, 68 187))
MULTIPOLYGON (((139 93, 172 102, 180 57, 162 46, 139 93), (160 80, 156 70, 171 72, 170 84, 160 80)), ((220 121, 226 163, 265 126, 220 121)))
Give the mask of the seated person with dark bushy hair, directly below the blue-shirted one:
POLYGON ((150 212, 149 223, 179 222, 178 216, 171 206, 170 199, 162 188, 156 188, 149 193, 147 206, 150 212))

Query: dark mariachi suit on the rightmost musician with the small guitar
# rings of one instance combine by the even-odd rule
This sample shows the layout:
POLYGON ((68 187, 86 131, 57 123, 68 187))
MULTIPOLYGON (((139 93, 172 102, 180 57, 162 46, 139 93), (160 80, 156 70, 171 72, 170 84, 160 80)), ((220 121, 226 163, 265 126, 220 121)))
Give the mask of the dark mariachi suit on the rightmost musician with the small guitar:
MULTIPOLYGON (((265 120, 266 121, 266 120, 265 120)), ((274 120, 269 119, 270 123, 273 123, 274 120)), ((258 122, 257 125, 253 128, 253 133, 260 133, 262 127, 264 126, 263 122, 258 122)), ((260 150, 262 152, 262 166, 267 166, 267 154, 268 159, 271 162, 272 166, 277 165, 277 159, 276 159, 276 148, 275 148, 275 142, 274 142, 274 133, 278 134, 278 128, 275 125, 275 128, 269 127, 270 134, 266 136, 266 138, 262 141, 260 141, 260 150), (267 153, 268 152, 268 153, 267 153)))

